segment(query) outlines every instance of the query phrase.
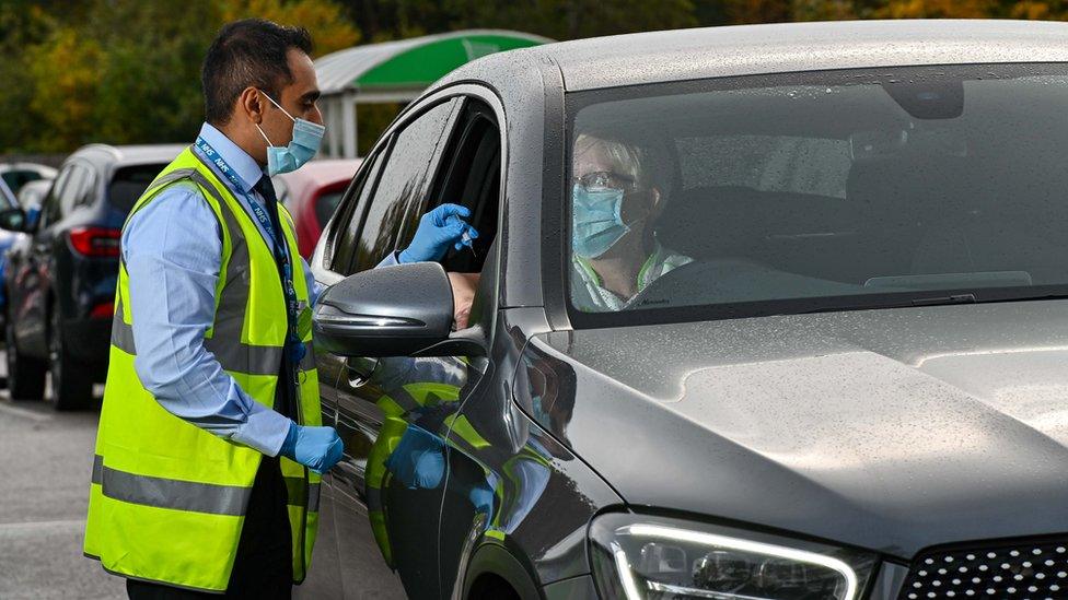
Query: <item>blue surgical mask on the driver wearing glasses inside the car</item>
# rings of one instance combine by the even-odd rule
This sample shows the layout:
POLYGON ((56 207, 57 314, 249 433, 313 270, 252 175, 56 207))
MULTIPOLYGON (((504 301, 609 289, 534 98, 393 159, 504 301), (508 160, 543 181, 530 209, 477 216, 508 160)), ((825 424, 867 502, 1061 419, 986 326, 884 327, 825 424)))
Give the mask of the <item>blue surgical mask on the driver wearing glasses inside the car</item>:
POLYGON ((571 196, 574 204, 571 233, 574 254, 582 258, 596 258, 630 232, 630 226, 623 222, 622 189, 587 189, 576 184, 571 196))

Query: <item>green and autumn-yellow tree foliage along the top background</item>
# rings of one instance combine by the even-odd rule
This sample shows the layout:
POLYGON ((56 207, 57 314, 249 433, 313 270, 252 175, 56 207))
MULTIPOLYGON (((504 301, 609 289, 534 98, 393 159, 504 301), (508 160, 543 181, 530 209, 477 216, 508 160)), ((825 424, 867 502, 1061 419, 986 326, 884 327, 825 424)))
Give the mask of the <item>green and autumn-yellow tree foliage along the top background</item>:
MULTIPOLYGON (((1068 20, 1068 0, 0 0, 0 154, 189 140, 204 114, 204 52, 223 23, 246 16, 306 27, 322 56, 460 28, 562 40, 790 21, 1068 20)), ((361 150, 395 110, 361 108, 361 150)))

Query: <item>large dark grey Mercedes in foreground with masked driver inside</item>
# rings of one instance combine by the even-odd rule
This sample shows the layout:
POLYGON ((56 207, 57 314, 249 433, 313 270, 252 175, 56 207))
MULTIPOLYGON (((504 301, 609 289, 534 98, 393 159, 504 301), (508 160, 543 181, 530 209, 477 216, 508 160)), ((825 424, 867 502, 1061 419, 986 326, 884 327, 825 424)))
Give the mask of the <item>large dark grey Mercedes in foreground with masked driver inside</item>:
POLYGON ((307 585, 1068 597, 1065 115, 1056 23, 650 33, 450 74, 312 258, 346 455, 307 585), (441 202, 474 251, 373 269, 441 202), (446 272, 480 275, 457 331, 446 272))

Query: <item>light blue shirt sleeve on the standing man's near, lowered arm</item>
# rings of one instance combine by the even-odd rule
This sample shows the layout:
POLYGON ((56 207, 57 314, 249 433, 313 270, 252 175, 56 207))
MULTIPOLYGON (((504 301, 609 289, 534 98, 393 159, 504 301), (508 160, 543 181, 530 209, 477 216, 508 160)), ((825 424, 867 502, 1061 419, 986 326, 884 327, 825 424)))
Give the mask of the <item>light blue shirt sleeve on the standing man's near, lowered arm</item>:
POLYGON ((172 414, 276 456, 291 420, 248 397, 204 346, 222 262, 218 232, 200 191, 184 184, 160 192, 130 217, 121 248, 130 281, 134 367, 172 414))

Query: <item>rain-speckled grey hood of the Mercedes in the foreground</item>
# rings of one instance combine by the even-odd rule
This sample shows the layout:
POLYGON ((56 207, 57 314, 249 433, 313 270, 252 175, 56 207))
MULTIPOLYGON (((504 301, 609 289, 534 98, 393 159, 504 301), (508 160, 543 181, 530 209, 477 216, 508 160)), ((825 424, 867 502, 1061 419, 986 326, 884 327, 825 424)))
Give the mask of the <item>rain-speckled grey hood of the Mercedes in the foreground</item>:
POLYGON ((1064 301, 561 332, 532 352, 574 370, 557 434, 630 505, 901 557, 1068 532, 1064 301))

